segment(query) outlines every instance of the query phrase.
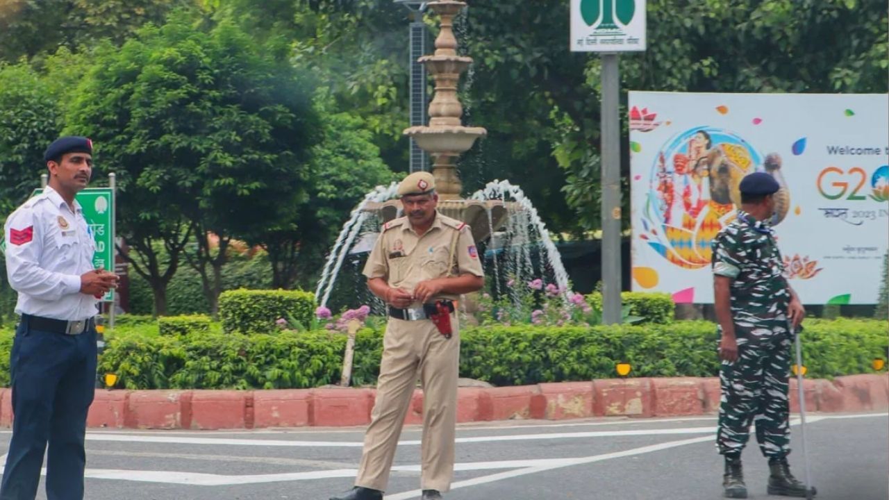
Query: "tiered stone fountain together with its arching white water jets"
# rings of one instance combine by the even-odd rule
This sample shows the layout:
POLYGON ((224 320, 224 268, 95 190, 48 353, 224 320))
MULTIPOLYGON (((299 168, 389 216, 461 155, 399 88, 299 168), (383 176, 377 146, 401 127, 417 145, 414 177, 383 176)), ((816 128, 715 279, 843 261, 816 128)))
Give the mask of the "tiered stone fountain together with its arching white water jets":
MULTIPOLYGON (((485 274, 491 275, 492 294, 514 295, 516 287, 509 280, 524 283, 533 278, 546 278, 559 286, 567 300, 568 274, 561 256, 549 237, 546 224, 518 186, 509 181, 491 181, 469 199, 461 198, 463 186, 457 173, 457 158, 487 133, 482 127, 461 124, 463 107, 457 99, 457 84, 461 74, 472 64, 472 58, 457 55, 453 18, 466 4, 440 0, 429 2, 427 6, 438 14, 441 31, 436 38, 436 52, 419 61, 426 65, 435 80, 435 97, 429 103, 429 124, 412 126, 404 130, 404 134, 412 137, 420 149, 433 157, 438 211, 468 223, 477 242, 488 241, 485 247, 493 250, 493 255, 491 268, 485 270, 485 274), (493 238, 494 235, 497 238, 493 238), (533 257, 535 253, 544 256, 538 259, 533 257)), ((401 202, 394 199, 396 188, 396 182, 378 186, 367 193, 349 214, 318 279, 315 296, 319 305, 328 304, 340 270, 345 268, 349 270, 350 278, 342 283, 347 296, 343 301, 354 307, 369 303, 378 313, 385 310, 379 298, 364 292, 364 277, 360 276, 363 264, 359 255, 370 252, 381 224, 399 215, 401 202)), ((466 302, 461 301, 461 304, 466 302)))

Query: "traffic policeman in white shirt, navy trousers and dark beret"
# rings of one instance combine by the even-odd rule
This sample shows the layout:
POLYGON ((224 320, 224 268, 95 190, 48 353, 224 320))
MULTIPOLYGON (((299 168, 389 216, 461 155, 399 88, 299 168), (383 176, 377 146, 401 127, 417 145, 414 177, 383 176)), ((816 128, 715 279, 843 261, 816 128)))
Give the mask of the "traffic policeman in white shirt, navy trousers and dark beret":
POLYGON ((0 500, 33 500, 46 451, 48 500, 84 497, 84 433, 96 379, 99 298, 117 277, 95 270, 95 241, 75 200, 92 141, 62 137, 44 154, 49 185, 6 220, 6 272, 21 315, 12 343, 12 441, 0 500), (47 443, 49 448, 47 450, 47 443))

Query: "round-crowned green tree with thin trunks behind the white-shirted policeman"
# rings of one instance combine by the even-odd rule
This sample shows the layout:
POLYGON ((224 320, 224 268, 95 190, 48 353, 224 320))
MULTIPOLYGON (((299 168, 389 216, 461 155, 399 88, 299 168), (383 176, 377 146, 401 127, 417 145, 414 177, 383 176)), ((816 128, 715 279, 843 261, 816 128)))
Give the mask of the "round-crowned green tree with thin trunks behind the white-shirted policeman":
POLYGON ((78 89, 68 128, 88 131, 100 168, 118 172, 118 227, 156 293, 191 232, 198 245, 185 255, 215 304, 230 239, 275 222, 304 187, 316 117, 303 80, 267 48, 228 23, 194 28, 182 12, 119 49, 101 48, 78 89))

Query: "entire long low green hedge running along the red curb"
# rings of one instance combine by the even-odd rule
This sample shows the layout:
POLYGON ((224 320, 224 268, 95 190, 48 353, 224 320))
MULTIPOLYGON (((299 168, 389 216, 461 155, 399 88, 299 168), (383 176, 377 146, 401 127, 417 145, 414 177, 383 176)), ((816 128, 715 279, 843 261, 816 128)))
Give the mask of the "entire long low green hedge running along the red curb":
MULTIPOLYGON (((810 320, 804 335, 812 377, 870 373, 871 360, 889 347, 885 321, 810 320)), ((345 344, 345 336, 326 332, 115 335, 100 371, 129 389, 307 388, 339 381, 345 344)), ((631 376, 715 376, 716 349, 716 327, 706 321, 469 328, 461 335, 461 376, 495 385, 581 381, 612 378, 621 361, 632 364, 631 376)), ((358 333, 353 384, 375 383, 381 350, 381 331, 358 333)))

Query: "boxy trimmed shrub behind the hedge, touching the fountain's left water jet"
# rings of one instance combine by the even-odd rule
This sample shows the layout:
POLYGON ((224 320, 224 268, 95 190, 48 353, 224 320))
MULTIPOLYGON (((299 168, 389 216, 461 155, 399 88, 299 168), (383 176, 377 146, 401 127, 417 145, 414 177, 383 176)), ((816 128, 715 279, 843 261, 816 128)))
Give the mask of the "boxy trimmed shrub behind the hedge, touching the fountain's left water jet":
POLYGON ((228 290, 220 294, 220 320, 227 333, 268 334, 277 319, 308 325, 315 314, 315 294, 302 290, 228 290))

